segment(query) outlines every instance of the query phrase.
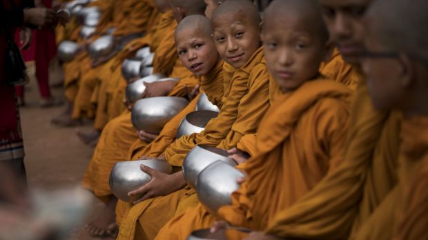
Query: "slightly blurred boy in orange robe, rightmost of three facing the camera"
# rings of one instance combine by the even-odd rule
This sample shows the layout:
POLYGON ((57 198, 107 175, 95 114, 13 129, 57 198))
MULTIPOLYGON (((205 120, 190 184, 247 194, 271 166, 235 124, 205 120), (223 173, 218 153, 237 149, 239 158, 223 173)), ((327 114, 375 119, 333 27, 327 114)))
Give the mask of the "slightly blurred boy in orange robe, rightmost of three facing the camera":
MULTIPOLYGON (((233 206, 217 212, 232 226, 253 230, 266 228, 279 210, 337 168, 351 97, 351 90, 319 73, 329 37, 317 1, 273 1, 264 16, 264 54, 280 94, 257 130, 257 154, 239 167, 247 177, 232 195, 233 206)), ((168 222, 157 239, 186 239, 215 219, 197 206, 168 222)))

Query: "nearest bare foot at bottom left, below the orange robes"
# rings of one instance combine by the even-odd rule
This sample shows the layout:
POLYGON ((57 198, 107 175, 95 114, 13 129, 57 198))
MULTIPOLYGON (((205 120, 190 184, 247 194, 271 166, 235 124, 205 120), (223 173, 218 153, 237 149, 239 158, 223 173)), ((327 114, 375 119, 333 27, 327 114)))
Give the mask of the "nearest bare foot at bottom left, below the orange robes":
POLYGON ((111 197, 107 205, 99 212, 97 218, 86 224, 85 229, 94 237, 116 237, 116 208, 117 198, 111 197))

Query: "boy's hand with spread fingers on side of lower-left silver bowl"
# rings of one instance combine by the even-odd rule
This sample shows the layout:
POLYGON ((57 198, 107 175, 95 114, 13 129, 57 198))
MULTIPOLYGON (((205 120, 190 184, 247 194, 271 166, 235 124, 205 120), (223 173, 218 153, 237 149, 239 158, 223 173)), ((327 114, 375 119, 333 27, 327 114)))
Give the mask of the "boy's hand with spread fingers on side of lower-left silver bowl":
MULTIPOLYGON (((177 172, 175 174, 166 174, 164 172, 159 172, 153 168, 149 168, 148 166, 141 165, 141 170, 149 174, 152 179, 146 185, 138 188, 137 190, 128 192, 128 196, 142 195, 137 201, 134 201, 134 204, 137 204, 146 199, 150 199, 153 197, 164 196, 175 192, 179 188, 182 188, 186 183, 184 178, 182 177, 183 184, 178 183, 179 179, 177 179, 177 174, 182 174, 181 172, 177 172)), ((178 176, 179 177, 179 176, 178 176)))

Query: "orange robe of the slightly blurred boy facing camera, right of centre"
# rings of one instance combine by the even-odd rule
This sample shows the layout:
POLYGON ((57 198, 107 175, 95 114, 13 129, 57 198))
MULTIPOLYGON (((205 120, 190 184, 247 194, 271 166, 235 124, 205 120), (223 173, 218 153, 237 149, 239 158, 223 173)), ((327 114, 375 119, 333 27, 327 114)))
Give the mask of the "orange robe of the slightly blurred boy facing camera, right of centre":
MULTIPOLYGON (((246 181, 218 217, 232 226, 263 230, 278 211, 337 168, 349 125, 350 96, 334 81, 315 79, 276 98, 257 130, 257 155, 237 167, 246 172, 246 181)), ((157 239, 186 239, 193 230, 211 227, 215 219, 199 205, 168 222, 157 239)))

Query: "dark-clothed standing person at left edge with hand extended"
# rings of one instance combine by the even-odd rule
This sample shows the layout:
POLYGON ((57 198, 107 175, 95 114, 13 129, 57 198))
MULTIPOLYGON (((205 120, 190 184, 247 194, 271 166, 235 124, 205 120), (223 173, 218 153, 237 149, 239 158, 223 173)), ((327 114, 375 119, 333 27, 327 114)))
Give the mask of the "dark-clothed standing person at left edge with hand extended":
POLYGON ((56 21, 55 12, 47 8, 34 8, 32 1, 0 1, 0 165, 12 169, 22 181, 26 179, 23 165, 23 141, 16 104, 15 81, 7 74, 6 66, 13 43, 13 32, 19 26, 50 27, 56 21))

